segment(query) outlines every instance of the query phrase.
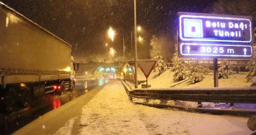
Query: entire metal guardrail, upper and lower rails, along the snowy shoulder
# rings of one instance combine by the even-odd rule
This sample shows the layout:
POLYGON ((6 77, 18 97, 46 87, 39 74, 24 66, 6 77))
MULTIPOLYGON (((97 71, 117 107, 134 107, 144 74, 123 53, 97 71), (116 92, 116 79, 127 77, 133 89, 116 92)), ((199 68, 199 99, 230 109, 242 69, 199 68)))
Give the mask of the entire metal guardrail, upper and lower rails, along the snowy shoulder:
MULTIPOLYGON (((124 84, 125 86, 125 84, 124 84)), ((126 87, 126 86, 125 86, 126 87)), ((256 115, 255 110, 230 110, 230 109, 213 109, 213 108, 198 108, 154 104, 144 102, 133 102, 133 98, 142 98, 146 100, 180 100, 212 103, 256 103, 256 87, 217 87, 217 88, 166 88, 166 89, 134 89, 126 93, 132 103, 146 105, 156 108, 178 109, 190 112, 210 113, 210 114, 225 114, 225 115, 256 115)))

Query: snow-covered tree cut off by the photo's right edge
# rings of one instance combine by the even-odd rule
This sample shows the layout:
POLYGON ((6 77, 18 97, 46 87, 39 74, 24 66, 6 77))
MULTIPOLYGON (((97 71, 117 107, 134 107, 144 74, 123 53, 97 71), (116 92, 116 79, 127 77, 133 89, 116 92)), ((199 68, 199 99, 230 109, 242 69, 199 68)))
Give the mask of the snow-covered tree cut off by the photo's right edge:
POLYGON ((256 86, 256 27, 254 28, 254 43, 253 43, 253 59, 248 62, 250 65, 246 67, 246 69, 249 69, 246 79, 249 82, 252 82, 251 86, 256 86))

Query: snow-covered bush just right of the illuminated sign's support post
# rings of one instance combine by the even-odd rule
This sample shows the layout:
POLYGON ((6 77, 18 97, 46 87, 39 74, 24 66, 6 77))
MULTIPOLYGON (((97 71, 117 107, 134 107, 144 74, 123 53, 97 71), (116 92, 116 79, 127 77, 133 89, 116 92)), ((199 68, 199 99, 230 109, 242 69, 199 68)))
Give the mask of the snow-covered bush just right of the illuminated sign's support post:
POLYGON ((227 59, 221 60, 220 68, 218 69, 218 78, 228 78, 233 68, 234 66, 230 64, 227 59))

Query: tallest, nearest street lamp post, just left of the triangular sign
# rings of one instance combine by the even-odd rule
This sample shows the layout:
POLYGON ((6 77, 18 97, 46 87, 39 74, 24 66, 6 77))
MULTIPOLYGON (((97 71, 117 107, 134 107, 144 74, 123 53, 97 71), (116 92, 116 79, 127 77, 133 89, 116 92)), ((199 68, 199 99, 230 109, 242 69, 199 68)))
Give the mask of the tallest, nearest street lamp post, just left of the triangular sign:
POLYGON ((137 19, 136 19, 136 0, 134 0, 134 46, 135 46, 135 88, 138 88, 138 73, 137 73, 137 19))

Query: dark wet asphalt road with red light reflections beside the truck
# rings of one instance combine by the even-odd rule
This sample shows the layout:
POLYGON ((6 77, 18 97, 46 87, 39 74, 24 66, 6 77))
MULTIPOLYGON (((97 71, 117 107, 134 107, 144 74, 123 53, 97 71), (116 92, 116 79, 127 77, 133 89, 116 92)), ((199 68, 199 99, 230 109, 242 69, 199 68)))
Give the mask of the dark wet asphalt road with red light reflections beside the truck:
POLYGON ((0 135, 12 134, 45 113, 107 82, 107 79, 77 79, 76 88, 73 92, 66 91, 61 96, 49 93, 33 99, 33 105, 28 108, 18 110, 10 115, 0 114, 0 135))

